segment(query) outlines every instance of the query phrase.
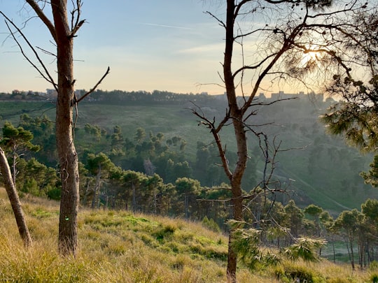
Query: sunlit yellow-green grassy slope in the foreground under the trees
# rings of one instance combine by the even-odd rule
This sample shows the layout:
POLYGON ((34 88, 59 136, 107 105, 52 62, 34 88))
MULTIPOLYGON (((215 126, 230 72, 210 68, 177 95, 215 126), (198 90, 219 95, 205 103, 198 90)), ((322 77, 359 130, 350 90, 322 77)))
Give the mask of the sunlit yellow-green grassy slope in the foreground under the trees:
MULTIPOLYGON (((199 223, 131 212, 80 211, 80 252, 57 254, 58 203, 22 198, 34 245, 22 246, 4 189, 0 189, 0 280, 2 282, 225 282, 225 235, 199 223)), ((372 282, 378 270, 355 270, 323 259, 283 261, 253 272, 239 266, 238 282, 293 282, 305 274, 314 283, 372 282)))

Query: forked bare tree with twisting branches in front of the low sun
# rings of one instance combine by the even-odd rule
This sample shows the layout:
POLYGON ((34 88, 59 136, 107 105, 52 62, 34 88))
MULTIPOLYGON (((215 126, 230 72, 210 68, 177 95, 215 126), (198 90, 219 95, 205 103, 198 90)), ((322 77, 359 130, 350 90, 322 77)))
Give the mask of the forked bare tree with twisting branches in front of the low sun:
MULTIPOLYGON (((193 113, 210 129, 218 146, 221 166, 231 184, 232 219, 243 220, 241 180, 248 159, 253 158, 248 154, 247 133, 253 129, 251 120, 257 114, 252 106, 264 104, 256 101, 256 94, 266 82, 274 85, 283 80, 297 81, 305 87, 310 83, 321 84, 339 67, 350 68, 353 61, 344 57, 345 48, 340 35, 349 17, 368 7, 358 0, 346 2, 227 0, 225 14, 223 11, 219 16, 207 12, 225 31, 223 73, 220 76, 228 108, 220 122, 197 109, 193 113), (235 56, 237 53, 241 57, 235 56), (311 75, 314 72, 315 75, 311 75), (221 130, 228 125, 232 125, 235 132, 236 164, 229 164, 221 138, 221 130)), ((229 282, 236 282, 237 254, 230 242, 232 231, 227 275, 229 282)))

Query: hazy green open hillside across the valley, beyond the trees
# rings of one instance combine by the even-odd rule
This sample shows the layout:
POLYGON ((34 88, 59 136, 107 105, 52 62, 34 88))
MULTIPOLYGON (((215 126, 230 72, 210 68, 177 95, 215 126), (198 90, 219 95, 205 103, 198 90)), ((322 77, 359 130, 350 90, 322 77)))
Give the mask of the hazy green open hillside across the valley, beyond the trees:
MULTIPOLYGON (((111 133, 113 126, 119 125, 123 136, 130 140, 139 127, 146 129, 147 134, 152 131, 154 134, 162 132, 166 138, 180 136, 187 142, 186 157, 194 163, 197 141, 209 144, 212 138, 208 129, 198 126, 197 118, 189 109, 192 106, 189 101, 179 105, 85 102, 78 108, 76 127, 83 129, 89 123, 111 133)), ((220 102, 201 106, 209 117, 221 117, 225 112, 220 102)), ((325 103, 319 106, 306 99, 283 101, 260 107, 259 114, 251 117, 251 124, 266 124, 258 129, 268 133, 271 146, 275 138, 276 143, 281 141, 281 150, 294 149, 279 152, 276 157, 276 179, 287 187, 290 197, 302 207, 315 203, 337 215, 342 210, 360 208, 360 203, 367 198, 378 198, 378 190, 363 184, 359 176, 361 171, 369 170, 372 155, 361 155, 342 138, 328 136, 325 127, 318 122, 318 115, 325 108, 325 103), (268 125, 270 123, 274 125, 268 125)), ((41 101, 1 101, 0 113, 1 122, 8 120, 18 124, 23 113, 32 117, 45 114, 53 119, 55 108, 41 101)), ((221 134, 228 152, 235 151, 231 127, 226 127, 221 134)), ((84 133, 78 131, 77 145, 83 143, 80 141, 83 136, 84 133)), ((252 134, 248 140, 250 149, 258 145, 252 134)), ((262 161, 258 159, 257 175, 261 177, 262 161)))

